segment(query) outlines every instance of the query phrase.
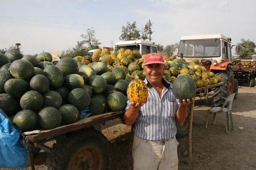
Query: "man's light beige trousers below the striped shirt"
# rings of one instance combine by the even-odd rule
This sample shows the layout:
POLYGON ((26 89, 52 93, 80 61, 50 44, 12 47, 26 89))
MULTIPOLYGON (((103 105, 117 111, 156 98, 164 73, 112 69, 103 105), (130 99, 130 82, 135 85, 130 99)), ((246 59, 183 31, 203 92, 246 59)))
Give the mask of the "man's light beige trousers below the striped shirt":
POLYGON ((148 141, 134 135, 134 170, 178 170, 178 141, 148 141))

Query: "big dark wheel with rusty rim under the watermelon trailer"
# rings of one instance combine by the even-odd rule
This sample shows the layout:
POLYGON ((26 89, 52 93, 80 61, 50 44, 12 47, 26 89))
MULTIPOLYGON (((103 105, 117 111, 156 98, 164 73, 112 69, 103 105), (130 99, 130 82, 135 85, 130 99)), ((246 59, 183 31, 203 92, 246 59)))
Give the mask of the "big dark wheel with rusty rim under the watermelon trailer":
POLYGON ((94 129, 61 136, 46 158, 50 170, 106 170, 108 164, 108 141, 94 129))

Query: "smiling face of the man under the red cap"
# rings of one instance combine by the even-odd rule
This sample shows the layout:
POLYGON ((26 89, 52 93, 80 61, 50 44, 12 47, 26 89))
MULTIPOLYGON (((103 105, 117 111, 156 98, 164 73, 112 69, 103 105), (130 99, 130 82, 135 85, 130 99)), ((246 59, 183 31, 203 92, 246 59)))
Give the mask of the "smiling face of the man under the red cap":
POLYGON ((159 83, 162 81, 164 75, 164 64, 155 63, 144 65, 144 72, 151 84, 159 83))

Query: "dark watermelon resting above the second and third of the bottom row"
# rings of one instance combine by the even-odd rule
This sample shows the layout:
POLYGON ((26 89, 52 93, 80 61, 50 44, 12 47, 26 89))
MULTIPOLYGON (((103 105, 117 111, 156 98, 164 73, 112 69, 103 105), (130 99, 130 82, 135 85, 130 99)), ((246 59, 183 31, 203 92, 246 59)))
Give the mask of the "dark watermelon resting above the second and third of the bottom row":
POLYGON ((62 97, 56 91, 48 91, 43 94, 44 107, 50 106, 58 109, 62 105, 62 97))

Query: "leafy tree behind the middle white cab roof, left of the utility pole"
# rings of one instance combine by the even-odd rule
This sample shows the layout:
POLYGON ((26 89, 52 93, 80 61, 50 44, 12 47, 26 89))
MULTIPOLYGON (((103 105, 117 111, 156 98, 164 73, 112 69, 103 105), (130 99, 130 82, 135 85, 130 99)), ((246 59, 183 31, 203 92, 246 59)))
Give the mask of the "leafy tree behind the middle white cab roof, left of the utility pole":
POLYGON ((136 26, 136 21, 133 23, 126 22, 126 24, 126 26, 122 26, 122 33, 119 39, 123 41, 140 39, 140 31, 136 26))

